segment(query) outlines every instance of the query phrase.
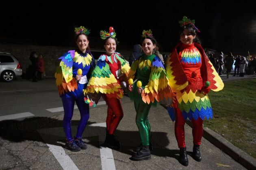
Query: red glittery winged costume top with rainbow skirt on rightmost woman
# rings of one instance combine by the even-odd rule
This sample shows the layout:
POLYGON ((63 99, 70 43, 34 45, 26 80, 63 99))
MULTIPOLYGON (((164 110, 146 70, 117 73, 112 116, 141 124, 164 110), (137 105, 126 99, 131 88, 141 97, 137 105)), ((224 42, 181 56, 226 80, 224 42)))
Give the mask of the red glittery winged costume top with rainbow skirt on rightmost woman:
MULTIPOLYGON (((210 82, 210 89, 223 89, 223 82, 201 45, 193 43, 184 45, 179 43, 167 59, 166 73, 169 85, 176 92, 178 108, 182 117, 195 120, 200 117, 212 118, 211 104, 208 95, 201 93, 206 81, 210 82)), ((168 108, 169 115, 174 121, 174 110, 168 108)))

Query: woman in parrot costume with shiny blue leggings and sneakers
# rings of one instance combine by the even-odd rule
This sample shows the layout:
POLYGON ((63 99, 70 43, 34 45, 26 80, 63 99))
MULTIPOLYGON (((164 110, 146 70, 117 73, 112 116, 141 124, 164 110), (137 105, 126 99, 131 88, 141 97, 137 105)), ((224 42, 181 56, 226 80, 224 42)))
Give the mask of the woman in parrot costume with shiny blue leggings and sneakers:
POLYGON ((87 34, 90 33, 90 30, 81 26, 76 28, 75 32, 77 32, 75 40, 78 49, 70 50, 59 58, 61 62, 56 68, 55 78, 64 108, 63 128, 67 138, 65 148, 71 151, 80 151, 80 149, 87 148, 81 137, 89 119, 89 104, 84 101, 83 89, 91 77, 91 70, 93 70, 95 64, 93 56, 88 50, 89 39, 87 34), (79 29, 80 32, 78 32, 79 29), (71 119, 75 102, 80 111, 81 119, 77 134, 73 138, 71 119))

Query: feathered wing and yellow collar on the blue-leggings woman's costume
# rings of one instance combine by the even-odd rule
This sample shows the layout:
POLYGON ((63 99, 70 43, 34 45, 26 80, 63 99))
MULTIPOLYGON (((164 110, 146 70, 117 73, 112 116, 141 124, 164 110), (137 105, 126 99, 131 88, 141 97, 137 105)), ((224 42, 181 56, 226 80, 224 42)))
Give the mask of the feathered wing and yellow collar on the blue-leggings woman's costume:
POLYGON ((75 50, 68 51, 59 58, 61 60, 60 65, 56 68, 54 74, 56 78, 56 85, 58 87, 59 95, 64 94, 67 91, 74 91, 77 89, 76 79, 73 77, 73 61, 82 63, 83 67, 91 64, 92 57, 87 53, 86 57, 82 57, 75 50))

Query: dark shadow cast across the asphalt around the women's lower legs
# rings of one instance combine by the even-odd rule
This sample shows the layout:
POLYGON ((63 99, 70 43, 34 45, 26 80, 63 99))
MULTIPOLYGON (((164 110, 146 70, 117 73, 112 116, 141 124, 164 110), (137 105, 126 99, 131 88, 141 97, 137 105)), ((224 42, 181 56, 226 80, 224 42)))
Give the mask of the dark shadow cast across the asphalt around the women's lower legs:
MULTIPOLYGON (((72 120, 72 127, 78 125, 78 120, 72 120)), ((103 142, 99 142, 98 134, 104 134, 104 136, 100 136, 101 138, 105 138, 106 128, 100 126, 88 126, 95 122, 88 121, 85 132, 83 133, 82 138, 87 139, 87 144, 91 144, 95 147, 102 146, 103 142), (88 133, 95 132, 94 136, 86 136, 88 133)), ((47 144, 54 144, 57 146, 64 147, 65 136, 61 136, 59 131, 63 131, 62 129, 62 121, 57 119, 52 119, 49 117, 32 117, 27 118, 22 121, 19 120, 4 120, 0 121, 0 137, 4 140, 9 140, 10 142, 22 142, 25 140, 39 141, 47 144), (44 133, 45 137, 49 140, 46 142, 42 139, 42 134, 39 134, 37 130, 41 129, 49 129, 51 133, 44 133), (58 131, 54 132, 54 130, 58 129, 58 131), (61 142, 61 143, 60 143, 61 142)), ((64 134, 64 132, 63 132, 64 134)), ((126 153, 128 155, 132 154, 133 149, 138 146, 141 142, 139 132, 138 131, 120 131, 116 130, 115 136, 121 142, 121 149, 119 152, 126 153)), ((174 157, 178 159, 179 150, 170 150, 167 149, 167 145, 169 144, 169 139, 167 138, 166 132, 151 132, 152 142, 153 142, 153 150, 152 155, 157 155, 160 157, 174 157)))

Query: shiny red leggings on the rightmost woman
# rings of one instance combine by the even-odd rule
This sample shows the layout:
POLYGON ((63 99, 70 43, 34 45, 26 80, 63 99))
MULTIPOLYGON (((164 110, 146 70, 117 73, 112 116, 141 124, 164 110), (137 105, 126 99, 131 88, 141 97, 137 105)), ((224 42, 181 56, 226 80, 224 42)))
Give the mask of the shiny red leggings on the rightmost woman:
MULTIPOLYGON (((178 142, 178 147, 183 148, 185 147, 185 132, 184 132, 184 125, 185 120, 182 117, 181 111, 178 107, 176 107, 177 111, 175 113, 175 136, 178 142)), ((203 135, 203 123, 204 121, 198 117, 197 120, 192 118, 192 135, 193 135, 193 143, 194 144, 201 144, 201 139, 203 135)))

